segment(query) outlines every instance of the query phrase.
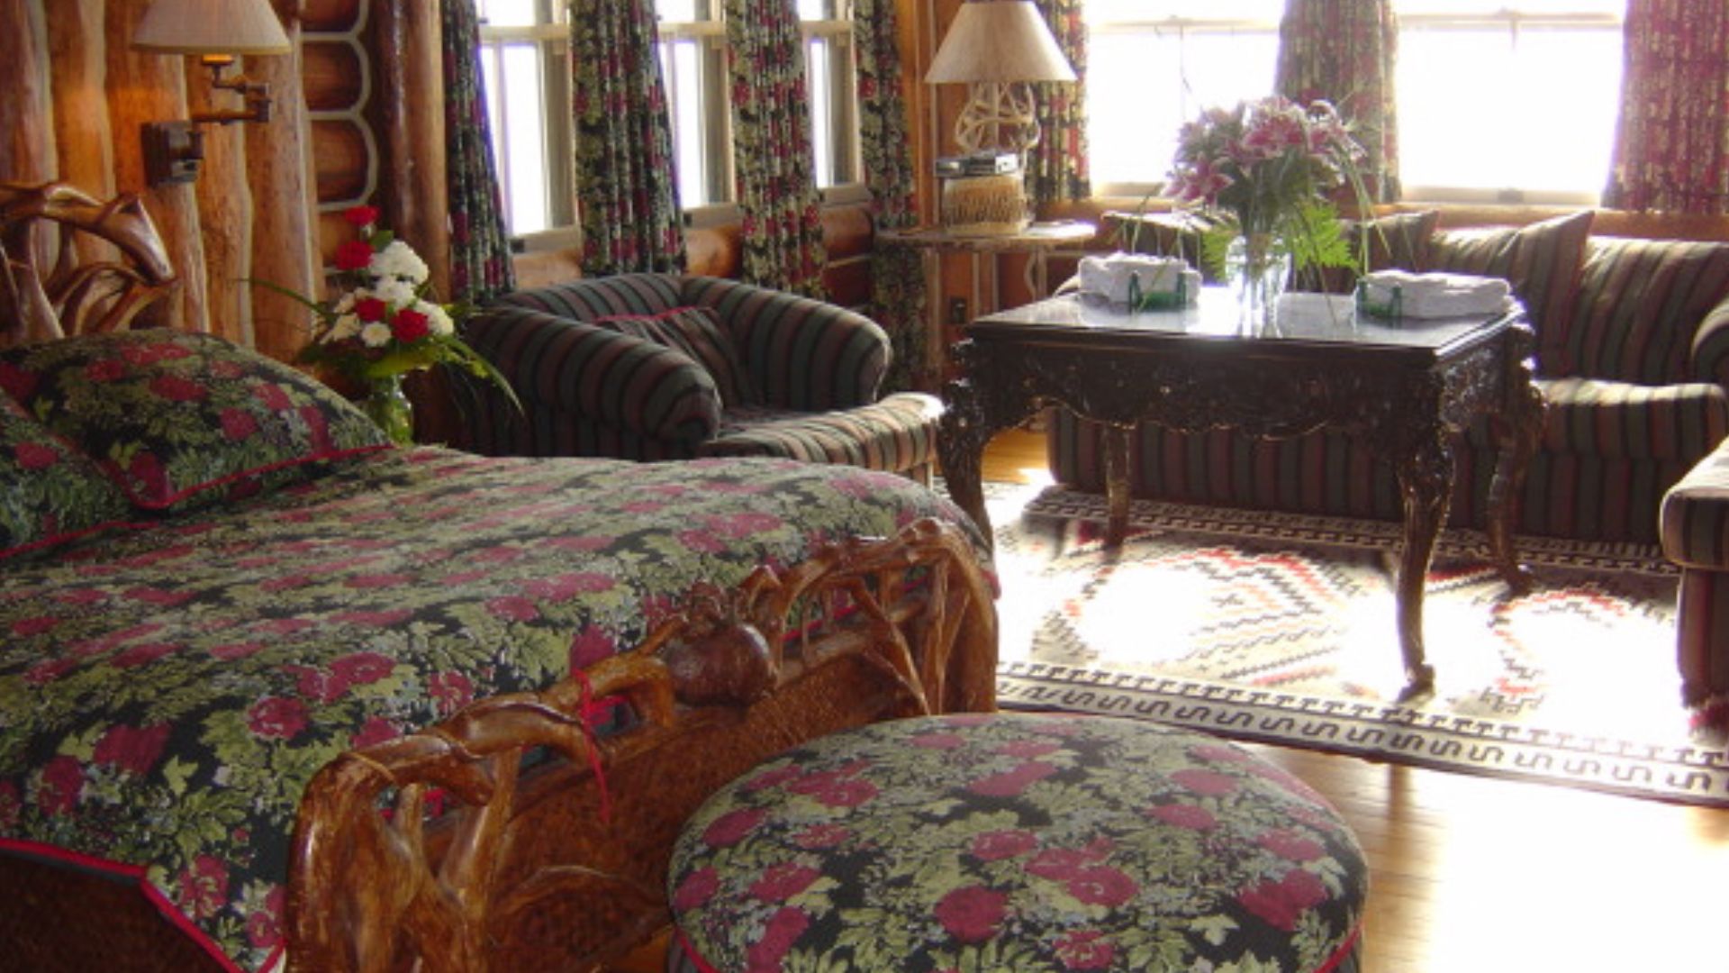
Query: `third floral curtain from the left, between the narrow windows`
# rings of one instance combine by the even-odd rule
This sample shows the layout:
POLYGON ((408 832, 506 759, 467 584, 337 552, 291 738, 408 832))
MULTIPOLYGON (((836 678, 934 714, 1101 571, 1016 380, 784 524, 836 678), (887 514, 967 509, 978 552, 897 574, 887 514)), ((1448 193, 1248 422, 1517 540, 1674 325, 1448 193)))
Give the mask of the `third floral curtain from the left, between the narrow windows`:
POLYGON ((726 0, 726 42, 743 222, 742 277, 821 298, 828 255, 813 178, 811 106, 794 0, 726 0))

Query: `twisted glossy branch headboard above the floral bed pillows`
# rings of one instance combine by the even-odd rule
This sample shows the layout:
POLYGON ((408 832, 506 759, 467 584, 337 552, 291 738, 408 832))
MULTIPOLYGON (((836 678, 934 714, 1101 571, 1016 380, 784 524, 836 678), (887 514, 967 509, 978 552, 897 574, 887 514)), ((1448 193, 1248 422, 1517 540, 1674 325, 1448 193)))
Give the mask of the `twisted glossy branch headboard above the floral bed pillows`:
POLYGON ((102 203, 62 182, 0 184, 0 346, 126 327, 180 282, 137 196, 102 203), (59 230, 47 265, 45 223, 59 230), (90 241, 121 260, 92 258, 90 241))

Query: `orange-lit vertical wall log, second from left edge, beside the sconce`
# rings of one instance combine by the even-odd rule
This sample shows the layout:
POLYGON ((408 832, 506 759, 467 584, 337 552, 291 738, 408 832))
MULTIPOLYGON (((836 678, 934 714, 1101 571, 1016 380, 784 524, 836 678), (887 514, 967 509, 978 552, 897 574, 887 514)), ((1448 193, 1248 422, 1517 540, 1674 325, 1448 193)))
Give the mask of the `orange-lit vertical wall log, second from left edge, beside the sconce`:
POLYGON ((57 178, 97 199, 114 196, 114 130, 109 126, 104 90, 104 7, 105 0, 54 0, 54 16, 47 23, 57 178))

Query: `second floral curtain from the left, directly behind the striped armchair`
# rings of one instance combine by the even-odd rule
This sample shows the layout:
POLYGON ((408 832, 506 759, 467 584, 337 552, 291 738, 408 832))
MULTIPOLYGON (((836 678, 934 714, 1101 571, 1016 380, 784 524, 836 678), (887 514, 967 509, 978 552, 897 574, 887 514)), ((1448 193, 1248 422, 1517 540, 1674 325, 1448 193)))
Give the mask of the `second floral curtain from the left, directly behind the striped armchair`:
POLYGON ((685 268, 654 0, 571 0, 583 274, 685 268))

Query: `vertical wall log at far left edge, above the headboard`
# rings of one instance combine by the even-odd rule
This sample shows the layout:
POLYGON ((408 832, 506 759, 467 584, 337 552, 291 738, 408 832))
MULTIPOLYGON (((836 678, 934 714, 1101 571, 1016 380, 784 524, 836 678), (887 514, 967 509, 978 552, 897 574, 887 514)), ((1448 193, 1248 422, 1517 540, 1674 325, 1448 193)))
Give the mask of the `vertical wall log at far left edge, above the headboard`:
POLYGON ((59 175, 48 95, 45 0, 0 0, 0 182, 48 182, 59 175))

